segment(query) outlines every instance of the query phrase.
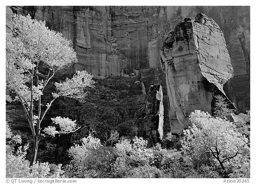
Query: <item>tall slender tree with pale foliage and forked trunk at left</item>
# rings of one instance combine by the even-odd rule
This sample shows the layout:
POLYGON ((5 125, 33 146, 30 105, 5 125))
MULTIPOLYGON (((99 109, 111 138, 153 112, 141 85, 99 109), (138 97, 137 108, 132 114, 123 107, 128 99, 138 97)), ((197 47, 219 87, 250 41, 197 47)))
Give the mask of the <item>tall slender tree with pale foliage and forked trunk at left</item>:
POLYGON ((49 30, 45 22, 32 20, 29 15, 13 16, 12 30, 6 33, 6 100, 20 101, 27 115, 33 137, 30 165, 36 161, 38 143, 45 136, 41 130, 52 136, 76 131, 76 121, 62 117, 52 118, 59 130, 55 126, 42 127, 45 114, 56 98, 64 96, 82 101, 86 95, 84 87, 93 85, 91 74, 77 71, 73 78, 55 82, 52 99, 43 103, 44 91, 56 72, 76 62, 72 42, 61 33, 49 30), (9 94, 14 94, 15 99, 9 94))

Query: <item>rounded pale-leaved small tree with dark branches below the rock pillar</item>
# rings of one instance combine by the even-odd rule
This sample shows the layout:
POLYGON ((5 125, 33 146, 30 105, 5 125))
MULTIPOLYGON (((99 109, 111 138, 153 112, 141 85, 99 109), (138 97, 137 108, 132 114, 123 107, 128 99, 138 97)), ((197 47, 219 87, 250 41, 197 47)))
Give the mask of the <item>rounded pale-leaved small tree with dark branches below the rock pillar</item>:
POLYGON ((225 177, 234 171, 247 172, 248 139, 231 122, 196 110, 189 117, 191 126, 184 130, 182 149, 194 162, 213 161, 220 166, 225 177))

